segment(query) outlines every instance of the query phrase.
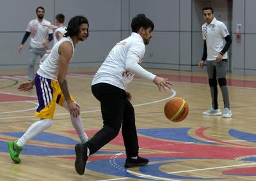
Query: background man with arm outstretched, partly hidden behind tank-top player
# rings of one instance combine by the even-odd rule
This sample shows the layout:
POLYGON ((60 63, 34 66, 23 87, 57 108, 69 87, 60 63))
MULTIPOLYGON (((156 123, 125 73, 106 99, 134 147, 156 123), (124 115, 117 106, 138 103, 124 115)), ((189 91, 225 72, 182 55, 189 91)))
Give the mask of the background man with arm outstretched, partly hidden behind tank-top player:
MULTIPOLYGON (((53 45, 55 45, 58 41, 63 38, 64 34, 67 33, 67 27, 64 25, 65 16, 63 14, 58 14, 55 16, 55 22, 56 25, 49 25, 45 24, 44 22, 41 22, 41 25, 44 25, 45 27, 48 27, 49 29, 52 29, 54 31, 53 35, 53 45)), ((48 57, 48 55, 51 53, 51 50, 46 50, 46 54, 40 59, 40 64, 45 61, 45 59, 48 57)))

